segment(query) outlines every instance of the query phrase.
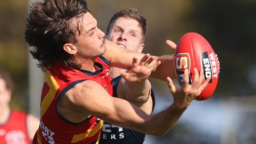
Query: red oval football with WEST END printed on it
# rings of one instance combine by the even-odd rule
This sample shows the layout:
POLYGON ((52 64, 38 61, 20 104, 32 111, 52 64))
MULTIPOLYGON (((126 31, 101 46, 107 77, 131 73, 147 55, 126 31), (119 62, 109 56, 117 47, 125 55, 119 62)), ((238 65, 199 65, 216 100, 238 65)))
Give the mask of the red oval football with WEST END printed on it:
POLYGON ((194 78, 194 68, 204 70, 204 80, 211 77, 206 88, 196 100, 206 100, 213 94, 219 77, 219 60, 209 42, 198 33, 186 33, 179 41, 174 52, 176 78, 183 84, 184 70, 189 70, 189 84, 194 78))

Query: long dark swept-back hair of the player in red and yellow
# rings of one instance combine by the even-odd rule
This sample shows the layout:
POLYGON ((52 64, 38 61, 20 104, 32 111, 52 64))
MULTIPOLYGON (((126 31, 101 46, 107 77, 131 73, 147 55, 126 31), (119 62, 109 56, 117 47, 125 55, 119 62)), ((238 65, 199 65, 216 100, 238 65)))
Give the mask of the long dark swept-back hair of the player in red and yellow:
POLYGON ((30 6, 24 34, 26 42, 33 46, 30 53, 39 61, 39 67, 60 59, 71 68, 80 68, 63 45, 78 42, 76 36, 81 34, 83 14, 87 12, 85 0, 45 0, 30 6))

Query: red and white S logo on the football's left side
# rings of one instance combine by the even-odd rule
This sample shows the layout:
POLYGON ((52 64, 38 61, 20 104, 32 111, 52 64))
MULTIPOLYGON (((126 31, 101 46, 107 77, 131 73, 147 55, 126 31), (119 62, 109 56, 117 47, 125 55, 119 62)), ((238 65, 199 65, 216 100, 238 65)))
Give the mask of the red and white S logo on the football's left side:
MULTIPOLYGON (((178 81, 180 82, 180 85, 183 85, 184 81, 184 70, 187 69, 188 71, 190 70, 190 57, 189 53, 180 53, 177 54, 175 57, 175 69, 176 69, 176 74, 178 81)), ((189 84, 192 83, 191 76, 189 74, 189 84)))

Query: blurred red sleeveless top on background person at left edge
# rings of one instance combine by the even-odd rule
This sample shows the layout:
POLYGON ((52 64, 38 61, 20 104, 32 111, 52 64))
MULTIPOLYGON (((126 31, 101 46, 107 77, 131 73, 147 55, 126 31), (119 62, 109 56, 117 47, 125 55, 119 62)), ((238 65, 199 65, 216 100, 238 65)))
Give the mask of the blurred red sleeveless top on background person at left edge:
POLYGON ((26 127, 27 114, 12 110, 8 121, 0 125, 0 144, 31 144, 26 127))

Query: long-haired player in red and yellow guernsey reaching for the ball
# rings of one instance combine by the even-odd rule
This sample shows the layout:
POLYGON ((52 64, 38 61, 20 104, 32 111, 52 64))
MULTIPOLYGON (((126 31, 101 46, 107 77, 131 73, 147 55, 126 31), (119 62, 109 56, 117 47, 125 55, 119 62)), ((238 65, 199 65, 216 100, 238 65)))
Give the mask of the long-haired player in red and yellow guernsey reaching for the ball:
POLYGON ((33 144, 97 144, 103 120, 150 135, 164 135, 209 81, 202 84, 203 74, 195 70, 192 85, 186 83, 185 73, 183 87, 176 89, 167 78, 175 76, 173 55, 154 57, 124 50, 104 37, 85 0, 45 0, 31 7, 25 39, 33 46, 30 52, 46 76, 40 127, 33 144), (122 73, 130 81, 140 82, 148 74, 167 79, 174 102, 150 116, 133 103, 112 97, 109 65, 130 69, 122 73))

